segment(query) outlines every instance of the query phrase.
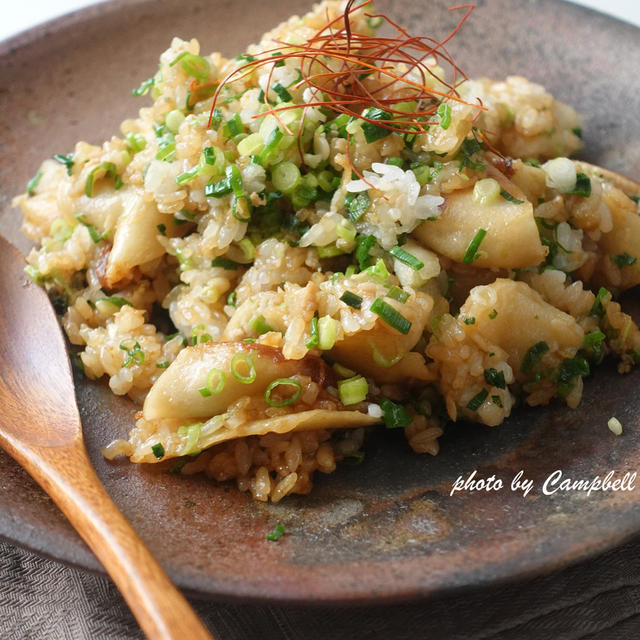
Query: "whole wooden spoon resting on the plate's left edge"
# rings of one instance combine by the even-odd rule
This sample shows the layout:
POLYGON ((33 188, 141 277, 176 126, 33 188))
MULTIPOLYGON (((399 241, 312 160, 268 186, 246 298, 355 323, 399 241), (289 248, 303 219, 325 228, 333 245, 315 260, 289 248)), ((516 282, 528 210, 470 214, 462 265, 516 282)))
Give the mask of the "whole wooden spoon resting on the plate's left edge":
POLYGON ((46 293, 23 269, 0 236, 0 445, 96 554, 147 637, 212 640, 93 470, 64 338, 46 293))

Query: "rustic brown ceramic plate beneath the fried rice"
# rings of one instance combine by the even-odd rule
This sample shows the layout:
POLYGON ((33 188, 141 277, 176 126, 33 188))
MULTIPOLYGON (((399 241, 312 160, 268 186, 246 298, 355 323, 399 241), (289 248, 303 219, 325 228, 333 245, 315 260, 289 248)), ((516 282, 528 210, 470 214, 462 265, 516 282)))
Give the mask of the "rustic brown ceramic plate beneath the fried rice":
MULTIPOLYGON (((379 0, 414 33, 440 37, 454 22, 448 4, 379 0)), ((27 248, 11 196, 24 189, 42 158, 69 152, 76 140, 101 143, 116 133, 120 121, 145 104, 131 97, 131 88, 154 71, 172 35, 197 37, 207 52, 236 54, 308 5, 116 0, 0 45, 0 230, 27 248)), ((638 30, 557 0, 479 5, 450 45, 467 73, 517 73, 545 84, 586 115, 585 159, 640 178, 638 30)), ((627 296, 628 305, 636 295, 627 296)), ((174 580, 204 595, 281 601, 425 596, 550 571, 640 532, 640 486, 590 497, 541 490, 556 469, 573 479, 638 469, 637 371, 619 377, 603 366, 575 411, 554 404, 516 411, 495 429, 452 425, 436 458, 412 454, 397 431, 379 430, 360 466, 341 465, 318 478, 311 496, 275 506, 201 478, 108 464, 100 447, 128 431, 134 407, 104 384, 81 376, 76 383, 87 445, 107 489, 174 580), (621 437, 607 429, 612 415, 624 425, 621 437), (509 488, 521 469, 535 482, 526 498, 509 488), (484 478, 494 474, 505 488, 450 497, 456 478, 473 470, 484 478), (267 542, 277 522, 287 533, 267 542)), ((4 455, 0 535, 97 568, 52 503, 4 455)))

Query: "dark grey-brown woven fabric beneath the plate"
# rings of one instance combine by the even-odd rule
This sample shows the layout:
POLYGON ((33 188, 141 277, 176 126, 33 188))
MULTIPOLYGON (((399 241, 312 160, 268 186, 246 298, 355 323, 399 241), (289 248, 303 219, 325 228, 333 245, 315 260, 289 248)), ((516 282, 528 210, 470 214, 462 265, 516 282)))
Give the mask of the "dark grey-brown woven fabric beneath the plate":
MULTIPOLYGON (((191 602, 217 640, 637 640, 640 538, 548 576, 413 604, 191 602)), ((0 638, 142 637, 107 578, 0 542, 0 638)))

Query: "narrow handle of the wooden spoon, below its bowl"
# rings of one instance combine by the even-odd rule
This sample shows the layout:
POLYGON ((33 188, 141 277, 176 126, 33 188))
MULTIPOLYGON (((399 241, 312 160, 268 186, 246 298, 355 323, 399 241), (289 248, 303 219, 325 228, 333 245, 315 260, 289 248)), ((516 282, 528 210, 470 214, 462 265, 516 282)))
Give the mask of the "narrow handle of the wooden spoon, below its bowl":
POLYGON ((3 442, 67 516, 152 640, 213 640, 96 475, 81 440, 37 447, 3 442))

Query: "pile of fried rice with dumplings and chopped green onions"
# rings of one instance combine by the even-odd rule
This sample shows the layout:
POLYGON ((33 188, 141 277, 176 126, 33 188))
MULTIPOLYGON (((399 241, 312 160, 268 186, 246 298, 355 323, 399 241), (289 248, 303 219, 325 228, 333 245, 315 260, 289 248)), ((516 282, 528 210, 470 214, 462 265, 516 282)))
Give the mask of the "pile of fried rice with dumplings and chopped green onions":
POLYGON ((638 199, 568 159, 577 113, 522 77, 452 92, 437 51, 426 75, 393 63, 398 81, 363 65, 356 115, 336 110, 307 79, 344 61, 296 51, 345 15, 366 49, 381 20, 346 9, 232 59, 174 38, 121 135, 46 160, 16 198, 27 273, 86 375, 141 405, 108 458, 277 502, 361 460, 367 428, 436 455, 448 420, 576 407, 605 356, 637 361, 612 296, 640 282, 638 199), (433 113, 407 130, 414 85, 433 113))

